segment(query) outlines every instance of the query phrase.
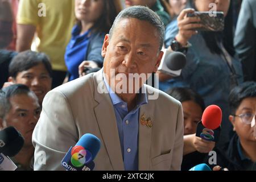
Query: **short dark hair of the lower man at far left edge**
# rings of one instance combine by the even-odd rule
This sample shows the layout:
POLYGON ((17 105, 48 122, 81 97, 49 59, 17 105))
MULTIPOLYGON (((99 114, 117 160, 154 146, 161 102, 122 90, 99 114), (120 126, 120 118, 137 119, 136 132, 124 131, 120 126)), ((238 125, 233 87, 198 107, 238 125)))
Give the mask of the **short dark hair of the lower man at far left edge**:
POLYGON ((38 100, 35 93, 32 92, 26 85, 14 84, 0 90, 0 118, 5 118, 5 115, 11 109, 10 98, 16 95, 26 94, 38 100))

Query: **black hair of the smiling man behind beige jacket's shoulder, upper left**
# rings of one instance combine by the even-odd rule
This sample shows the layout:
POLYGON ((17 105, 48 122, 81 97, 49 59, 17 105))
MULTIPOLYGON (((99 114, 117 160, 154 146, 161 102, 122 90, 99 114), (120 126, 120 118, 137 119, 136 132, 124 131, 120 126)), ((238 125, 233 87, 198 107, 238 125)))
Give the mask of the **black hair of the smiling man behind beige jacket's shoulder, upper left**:
POLYGON ((45 53, 35 51, 18 53, 9 65, 9 76, 15 79, 19 72, 27 71, 40 63, 46 67, 49 76, 52 77, 52 66, 49 57, 45 53))

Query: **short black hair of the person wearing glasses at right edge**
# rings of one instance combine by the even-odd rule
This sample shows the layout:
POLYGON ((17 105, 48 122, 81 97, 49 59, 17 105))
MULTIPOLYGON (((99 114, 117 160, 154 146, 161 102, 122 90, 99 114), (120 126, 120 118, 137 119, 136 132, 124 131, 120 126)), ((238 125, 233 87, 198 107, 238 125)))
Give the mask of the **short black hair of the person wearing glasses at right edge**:
POLYGON ((245 98, 256 97, 256 82, 247 81, 233 88, 229 94, 230 114, 236 114, 237 108, 245 98))

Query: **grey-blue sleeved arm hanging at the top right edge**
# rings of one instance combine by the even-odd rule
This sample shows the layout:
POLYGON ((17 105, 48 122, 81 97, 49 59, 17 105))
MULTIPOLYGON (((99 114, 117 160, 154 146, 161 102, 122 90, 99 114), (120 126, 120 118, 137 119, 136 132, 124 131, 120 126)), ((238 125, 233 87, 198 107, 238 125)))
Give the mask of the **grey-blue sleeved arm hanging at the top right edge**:
POLYGON ((242 62, 245 80, 253 80, 255 73, 256 25, 253 22, 255 22, 256 15, 254 6, 256 3, 250 5, 250 1, 242 2, 234 36, 234 47, 242 62))

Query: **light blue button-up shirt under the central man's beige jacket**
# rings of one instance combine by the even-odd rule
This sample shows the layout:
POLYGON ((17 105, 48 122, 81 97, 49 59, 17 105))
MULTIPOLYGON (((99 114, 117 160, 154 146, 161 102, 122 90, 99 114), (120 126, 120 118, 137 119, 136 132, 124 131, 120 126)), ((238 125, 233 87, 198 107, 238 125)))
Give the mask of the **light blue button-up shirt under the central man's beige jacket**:
POLYGON ((139 131, 139 108, 143 104, 147 104, 147 94, 142 86, 137 95, 136 106, 133 110, 128 111, 127 103, 121 100, 110 88, 106 78, 104 77, 106 88, 114 106, 115 118, 117 119, 117 127, 119 140, 121 144, 123 163, 125 170, 138 170, 138 131, 139 131))

